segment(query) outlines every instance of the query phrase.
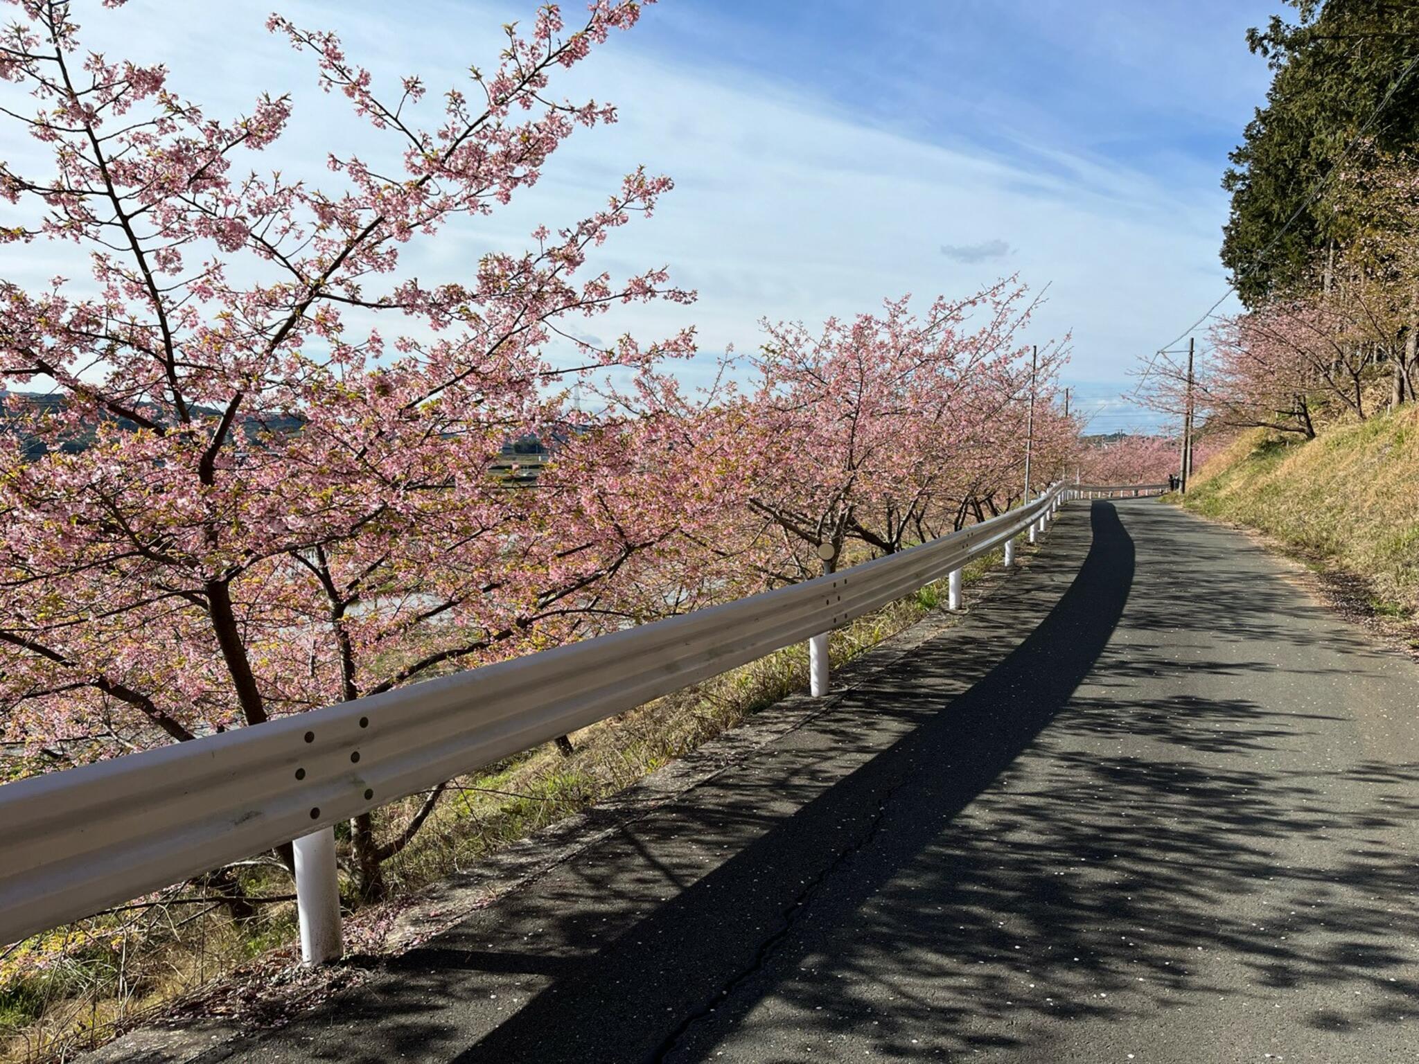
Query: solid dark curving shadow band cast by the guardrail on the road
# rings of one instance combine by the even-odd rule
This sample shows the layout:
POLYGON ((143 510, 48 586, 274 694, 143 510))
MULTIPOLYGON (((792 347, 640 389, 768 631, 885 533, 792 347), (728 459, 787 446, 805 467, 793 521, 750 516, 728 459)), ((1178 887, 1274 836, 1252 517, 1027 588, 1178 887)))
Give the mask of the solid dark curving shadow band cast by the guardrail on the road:
POLYGON ((824 912, 850 921, 1039 736, 1104 650, 1128 600, 1134 545, 1112 505, 1097 504, 1091 521, 1076 579, 964 694, 942 697, 934 674, 971 663, 939 658, 912 660, 912 675, 894 671, 858 691, 858 699, 893 698, 894 715, 920 722, 619 939, 558 972, 455 1060, 667 1058, 688 1048, 684 1036, 729 993, 745 997, 748 980, 786 948, 797 921, 824 912), (829 880, 824 911, 826 895, 815 895, 829 880))

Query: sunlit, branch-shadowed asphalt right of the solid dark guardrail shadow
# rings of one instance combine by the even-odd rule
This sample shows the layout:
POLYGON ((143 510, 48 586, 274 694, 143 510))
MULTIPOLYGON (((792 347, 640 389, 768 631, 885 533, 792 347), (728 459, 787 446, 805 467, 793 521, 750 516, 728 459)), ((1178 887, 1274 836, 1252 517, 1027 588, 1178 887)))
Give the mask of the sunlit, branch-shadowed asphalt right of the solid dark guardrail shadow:
POLYGON ((673 1060, 803 1060, 840 1037, 1025 1060, 1412 1043, 1412 668, 1239 559, 1261 552, 1235 535, 1127 512, 1148 583, 1087 688, 876 894, 816 898, 813 936, 673 1060), (1209 681, 1168 682, 1182 668, 1209 681), (1395 724, 1371 709, 1362 731, 1376 688, 1355 681, 1382 677, 1395 724))

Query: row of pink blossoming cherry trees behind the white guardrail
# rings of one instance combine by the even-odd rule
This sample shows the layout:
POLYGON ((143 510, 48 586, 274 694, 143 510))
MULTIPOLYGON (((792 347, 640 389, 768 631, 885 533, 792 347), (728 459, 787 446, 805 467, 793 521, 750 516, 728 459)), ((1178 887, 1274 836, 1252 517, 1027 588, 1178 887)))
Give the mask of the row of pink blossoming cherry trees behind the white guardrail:
MULTIPOLYGON (((0 282, 0 712, 24 770, 585 638, 817 575, 823 543, 898 550, 1019 501, 1032 304, 1015 281, 765 325, 691 394, 674 375, 690 331, 578 339, 612 306, 692 299, 664 270, 589 265, 664 177, 631 173, 604 210, 463 281, 402 265, 531 186, 575 126, 614 119, 549 88, 636 0, 509 27, 499 65, 427 122, 417 78, 386 98, 333 35, 272 17, 386 138, 379 160, 332 153, 321 187, 250 169, 285 98, 217 119, 162 67, 85 51, 70 3, 17 6, 0 75, 33 95, 11 129, 48 155, 0 167, 20 218, 0 235, 68 245, 82 278, 0 282), (573 411, 573 382, 599 413, 573 411), (553 441, 534 487, 490 472, 525 434, 553 441)), ((1040 480, 1074 445, 1050 401, 1063 358, 1042 352, 1040 480)), ((438 799, 352 826, 362 895, 438 799)))

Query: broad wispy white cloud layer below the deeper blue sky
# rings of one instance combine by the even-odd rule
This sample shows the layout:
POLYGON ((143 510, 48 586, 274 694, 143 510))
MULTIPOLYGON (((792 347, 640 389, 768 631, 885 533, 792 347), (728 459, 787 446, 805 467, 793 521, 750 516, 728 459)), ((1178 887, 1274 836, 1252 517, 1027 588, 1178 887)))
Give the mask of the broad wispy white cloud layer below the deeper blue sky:
MULTIPOLYGON (((470 64, 492 67, 499 24, 532 10, 463 0, 282 4, 298 23, 341 31, 350 57, 386 84, 424 75, 430 98, 467 85, 470 64)), ((135 0, 81 14, 87 41, 167 62, 175 87, 213 113, 236 113, 263 89, 291 91, 289 135, 250 165, 325 180, 329 149, 396 157, 397 145, 349 116, 343 98, 314 88, 309 58, 267 34, 254 6, 204 4, 193 17, 190 0, 135 0)), ((656 17, 648 9, 646 18, 656 17)), ((1043 339, 1073 329, 1071 376, 1120 380, 1220 291, 1220 193, 1179 199, 1154 177, 1057 146, 1002 153, 935 143, 708 55, 673 61, 637 33, 614 37, 561 87, 616 102, 620 122, 573 136, 508 210, 412 244, 412 270, 467 275, 484 251, 519 245, 536 224, 595 210, 620 174, 646 163, 677 189, 654 218, 617 231, 597 264, 616 272, 668 264, 700 302, 616 312, 595 323, 597 335, 654 336, 694 322, 707 352, 745 348, 762 316, 812 322, 904 292, 964 294, 1007 270, 1036 288, 1050 284, 1034 331, 1043 339)), ((0 277, 55 272, 48 250, 0 255, 0 277)))

